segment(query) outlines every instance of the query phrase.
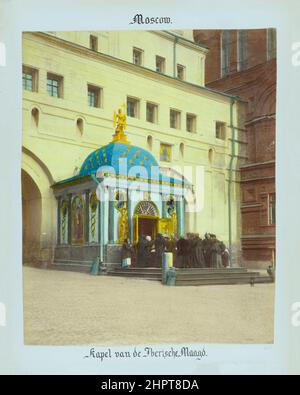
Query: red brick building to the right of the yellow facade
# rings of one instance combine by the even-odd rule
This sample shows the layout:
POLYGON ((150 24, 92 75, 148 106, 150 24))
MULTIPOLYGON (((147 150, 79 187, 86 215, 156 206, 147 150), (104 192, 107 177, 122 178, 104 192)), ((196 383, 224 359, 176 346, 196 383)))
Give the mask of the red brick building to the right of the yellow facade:
POLYGON ((206 85, 248 101, 242 253, 248 266, 268 265, 275 260, 276 31, 196 30, 194 37, 210 49, 206 85))

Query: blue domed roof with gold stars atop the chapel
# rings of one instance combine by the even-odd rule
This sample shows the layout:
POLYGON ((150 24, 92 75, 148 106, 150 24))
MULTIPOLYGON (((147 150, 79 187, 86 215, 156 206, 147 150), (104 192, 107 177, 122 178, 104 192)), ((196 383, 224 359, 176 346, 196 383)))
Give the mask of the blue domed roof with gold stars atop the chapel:
POLYGON ((150 152, 134 145, 113 142, 92 152, 84 161, 79 174, 95 174, 100 167, 107 166, 114 168, 116 174, 124 174, 124 164, 126 174, 134 166, 143 167, 148 174, 152 167, 159 166, 150 152))

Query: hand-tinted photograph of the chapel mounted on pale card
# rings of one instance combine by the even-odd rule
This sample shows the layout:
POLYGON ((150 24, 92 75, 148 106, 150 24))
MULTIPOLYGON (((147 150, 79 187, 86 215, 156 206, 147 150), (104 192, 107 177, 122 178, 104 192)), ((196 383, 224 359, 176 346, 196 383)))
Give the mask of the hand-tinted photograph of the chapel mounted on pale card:
POLYGON ((276 30, 23 33, 28 345, 267 344, 276 30))

